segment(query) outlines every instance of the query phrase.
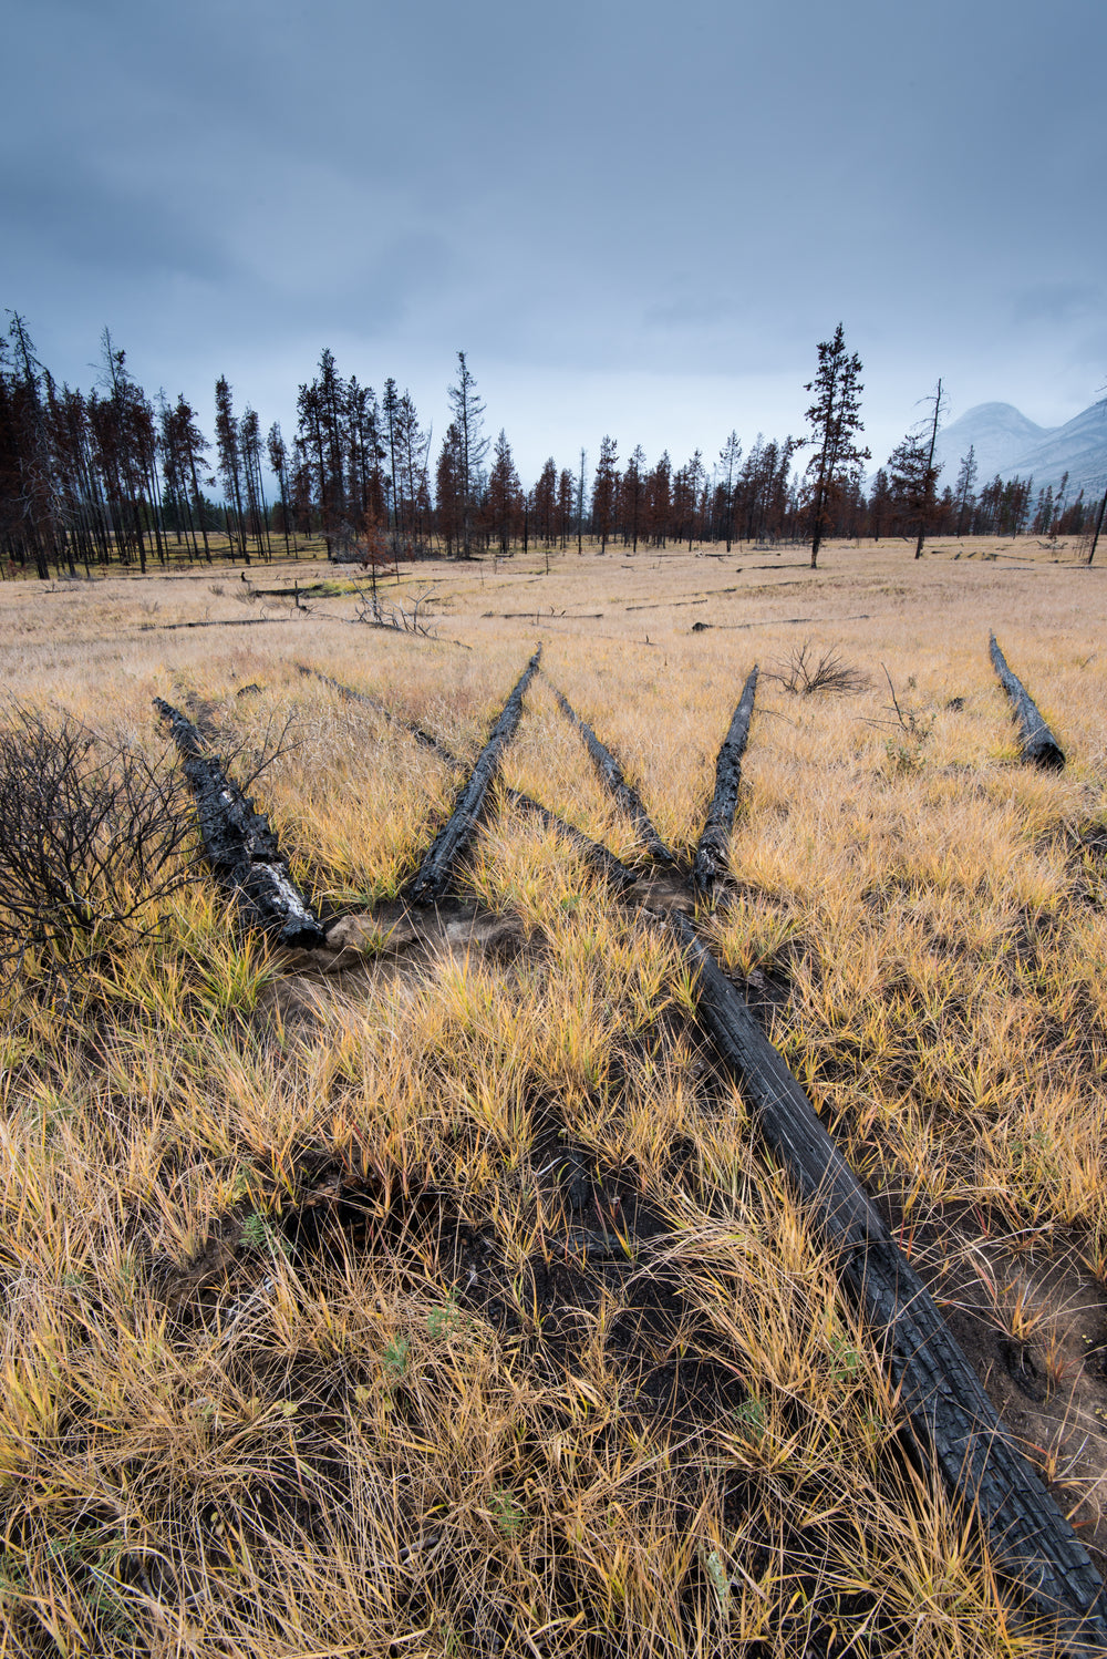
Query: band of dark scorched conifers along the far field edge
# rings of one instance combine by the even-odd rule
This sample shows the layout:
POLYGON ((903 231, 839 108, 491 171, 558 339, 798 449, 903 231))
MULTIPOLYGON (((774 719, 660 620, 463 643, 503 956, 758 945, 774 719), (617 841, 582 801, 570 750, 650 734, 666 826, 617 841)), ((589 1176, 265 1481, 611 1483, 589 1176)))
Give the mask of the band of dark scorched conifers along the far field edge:
POLYGON ((620 460, 605 436, 592 465, 583 450, 570 465, 550 456, 527 488, 505 431, 489 436, 461 352, 437 448, 396 380, 378 397, 356 375, 345 378, 330 350, 298 388, 295 433, 278 423, 263 431, 250 405, 237 415, 220 378, 209 438, 184 395, 147 395, 108 330, 96 385, 80 392, 58 385, 23 319, 8 317, 0 337, 5 579, 227 557, 249 564, 302 554, 305 542, 368 564, 464 559, 489 549, 565 551, 585 536, 631 551, 807 539, 814 564, 827 538, 903 536, 918 554, 928 534, 1079 534, 1097 508, 1082 496, 1067 503, 1064 489, 1034 494, 1031 478, 979 479, 971 450, 956 483, 938 491, 941 383, 933 418, 903 438, 865 493, 862 365, 840 327, 819 345, 807 436, 757 433, 744 446, 731 431, 718 456, 696 450, 679 465, 668 451, 650 463, 641 446, 620 460))

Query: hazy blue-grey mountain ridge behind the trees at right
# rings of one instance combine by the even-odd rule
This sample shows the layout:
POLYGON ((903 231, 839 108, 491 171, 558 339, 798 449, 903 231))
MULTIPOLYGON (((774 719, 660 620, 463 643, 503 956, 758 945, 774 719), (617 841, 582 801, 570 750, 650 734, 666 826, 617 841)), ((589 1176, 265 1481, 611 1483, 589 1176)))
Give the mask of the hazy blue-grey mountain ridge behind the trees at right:
POLYGON ((1032 478, 1036 489, 1056 489, 1069 473, 1067 499, 1079 489, 1102 494, 1107 486, 1107 398, 1064 426, 1036 426, 1013 403, 978 403, 938 433, 935 460, 940 488, 956 483, 969 445, 976 450, 976 488, 1001 478, 1032 478))

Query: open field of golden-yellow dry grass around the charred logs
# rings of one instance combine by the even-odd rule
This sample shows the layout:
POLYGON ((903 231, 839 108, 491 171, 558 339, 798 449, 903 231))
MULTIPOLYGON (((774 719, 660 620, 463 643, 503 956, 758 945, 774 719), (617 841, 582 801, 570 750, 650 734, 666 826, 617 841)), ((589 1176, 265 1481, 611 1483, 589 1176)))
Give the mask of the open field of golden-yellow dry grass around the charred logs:
POLYGON ((698 927, 1102 1569, 1107 591, 1064 546, 986 552, 383 582, 431 592, 436 637, 355 625, 343 572, 300 604, 237 571, 0 587, 0 680, 51 720, 176 766, 162 697, 242 776, 287 728, 252 795, 348 917, 282 956, 199 881, 154 934, 108 929, 65 979, 41 946, 3 989, 0 1654, 1052 1651, 905 1453, 658 921, 693 911, 757 662, 698 927), (1019 763, 989 627, 1064 771, 1019 763), (457 776, 298 665, 472 758, 539 640, 504 781, 640 883, 497 796, 456 898, 408 916, 457 776), (789 692, 807 642, 867 685, 789 692))

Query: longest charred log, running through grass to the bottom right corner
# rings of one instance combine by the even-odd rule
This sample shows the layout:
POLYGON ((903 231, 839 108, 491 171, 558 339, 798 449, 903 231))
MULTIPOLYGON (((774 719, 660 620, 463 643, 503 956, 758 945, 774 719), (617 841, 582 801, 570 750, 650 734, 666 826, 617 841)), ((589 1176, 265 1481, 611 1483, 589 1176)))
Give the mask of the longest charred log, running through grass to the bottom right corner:
POLYGON ((923 1281, 742 997, 683 916, 670 912, 670 926, 696 972, 699 1022, 882 1344, 916 1442, 955 1498, 976 1513, 996 1566, 1019 1598, 1056 1626, 1069 1652, 1102 1654, 1107 1593, 1087 1551, 1008 1440, 923 1281))

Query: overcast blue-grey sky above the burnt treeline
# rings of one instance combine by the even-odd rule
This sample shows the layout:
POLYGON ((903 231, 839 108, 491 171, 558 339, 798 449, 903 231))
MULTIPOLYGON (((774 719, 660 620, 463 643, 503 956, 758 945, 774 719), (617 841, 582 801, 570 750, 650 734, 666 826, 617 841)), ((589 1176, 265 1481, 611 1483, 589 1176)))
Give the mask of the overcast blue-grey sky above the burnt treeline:
POLYGON ((212 430, 295 426, 330 345, 436 448, 466 350, 554 453, 804 430, 815 343, 875 460, 1061 425, 1107 380, 1104 0, 8 0, 0 304, 88 387, 104 324, 212 430))

